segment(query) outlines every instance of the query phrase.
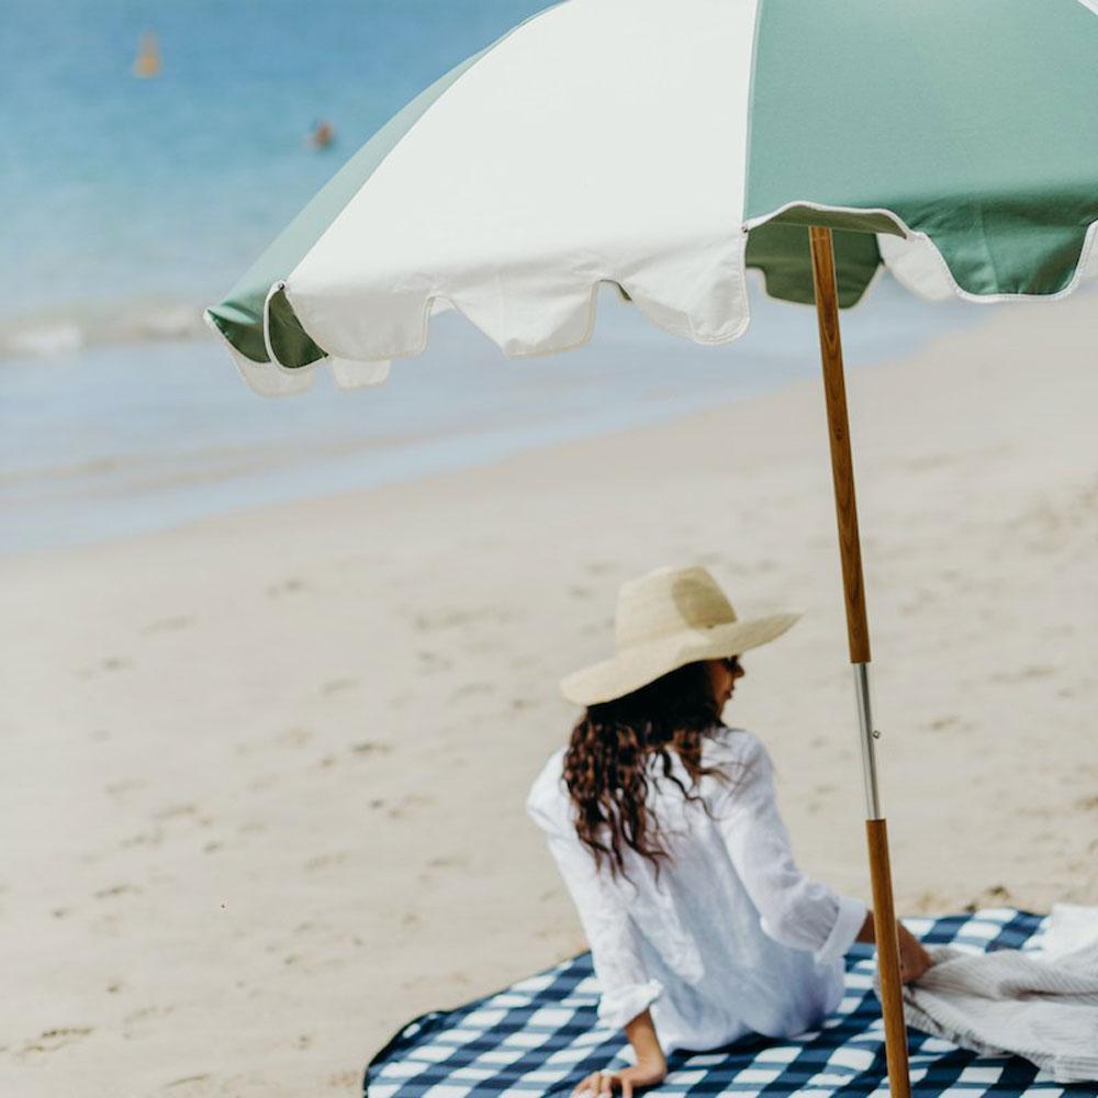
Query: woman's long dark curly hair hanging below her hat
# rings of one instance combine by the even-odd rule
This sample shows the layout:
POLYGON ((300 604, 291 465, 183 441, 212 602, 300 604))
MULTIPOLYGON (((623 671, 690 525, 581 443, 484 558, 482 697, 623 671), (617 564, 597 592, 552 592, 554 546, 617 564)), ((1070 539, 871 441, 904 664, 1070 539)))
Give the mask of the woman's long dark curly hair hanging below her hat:
POLYGON ((702 800, 696 792, 702 777, 728 777, 702 765, 703 740, 725 727, 705 663, 687 663, 631 694, 589 706, 572 730, 563 772, 576 833, 600 869, 608 861, 612 875, 625 874, 621 855, 628 847, 659 872, 660 861, 671 855, 646 807, 653 761, 687 800, 702 800), (672 751, 690 786, 673 773, 672 751))

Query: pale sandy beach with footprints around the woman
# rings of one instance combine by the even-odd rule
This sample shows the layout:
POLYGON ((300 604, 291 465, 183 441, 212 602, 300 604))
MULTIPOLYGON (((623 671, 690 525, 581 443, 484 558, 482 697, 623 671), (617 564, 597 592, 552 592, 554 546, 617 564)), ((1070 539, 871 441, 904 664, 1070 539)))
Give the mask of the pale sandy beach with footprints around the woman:
MULTIPOLYGON (((1098 903, 1096 304, 850 381, 903 914, 1098 903)), ((726 718, 867 896, 816 383, 7 559, 0 1093, 355 1095, 413 1016, 582 949, 523 810, 556 683, 621 580, 692 562, 805 612, 726 718)))

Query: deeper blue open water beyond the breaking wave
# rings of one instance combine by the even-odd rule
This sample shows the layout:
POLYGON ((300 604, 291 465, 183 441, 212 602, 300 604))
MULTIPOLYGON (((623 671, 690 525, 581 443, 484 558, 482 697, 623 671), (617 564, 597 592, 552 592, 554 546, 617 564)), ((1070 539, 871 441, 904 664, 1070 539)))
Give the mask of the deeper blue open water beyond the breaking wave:
POLYGON ((544 7, 3 0, 0 320, 220 298, 390 115, 544 7), (146 31, 161 71, 136 79, 146 31))

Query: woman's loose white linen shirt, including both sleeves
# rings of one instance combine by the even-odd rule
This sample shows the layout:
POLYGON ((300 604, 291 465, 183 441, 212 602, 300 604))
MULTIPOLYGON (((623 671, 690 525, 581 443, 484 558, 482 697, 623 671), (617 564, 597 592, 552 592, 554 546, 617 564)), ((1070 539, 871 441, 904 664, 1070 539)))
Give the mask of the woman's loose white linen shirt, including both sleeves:
MULTIPOLYGON (((685 768, 670 755, 688 788, 685 768)), ((649 818, 671 860, 657 872, 626 848, 626 877, 612 876, 605 861, 597 871, 580 841, 563 758, 562 748, 549 759, 526 808, 548 836, 583 923, 600 1021, 620 1029, 650 1007, 665 1053, 817 1028, 842 998, 842 956, 866 908, 795 865, 762 743, 741 729, 705 737, 703 765, 729 781, 703 777, 704 804, 686 800, 653 757, 649 818)))

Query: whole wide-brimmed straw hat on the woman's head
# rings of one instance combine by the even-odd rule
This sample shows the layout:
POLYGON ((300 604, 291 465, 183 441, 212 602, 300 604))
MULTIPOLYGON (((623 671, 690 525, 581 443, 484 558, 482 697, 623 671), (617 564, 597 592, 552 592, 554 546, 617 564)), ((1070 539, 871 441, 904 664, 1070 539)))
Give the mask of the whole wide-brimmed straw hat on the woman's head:
POLYGON ((561 693, 579 705, 609 702, 687 663, 765 645, 799 617, 772 614, 740 621, 704 568, 658 568, 621 584, 614 656, 561 680, 561 693))

